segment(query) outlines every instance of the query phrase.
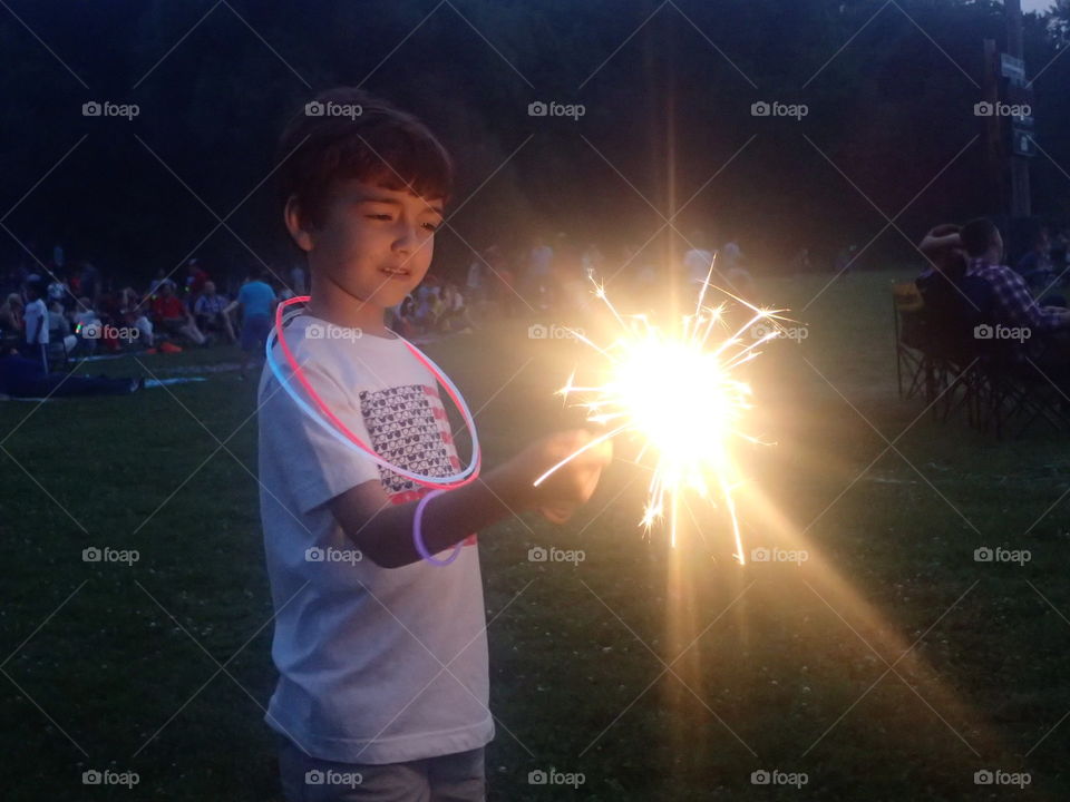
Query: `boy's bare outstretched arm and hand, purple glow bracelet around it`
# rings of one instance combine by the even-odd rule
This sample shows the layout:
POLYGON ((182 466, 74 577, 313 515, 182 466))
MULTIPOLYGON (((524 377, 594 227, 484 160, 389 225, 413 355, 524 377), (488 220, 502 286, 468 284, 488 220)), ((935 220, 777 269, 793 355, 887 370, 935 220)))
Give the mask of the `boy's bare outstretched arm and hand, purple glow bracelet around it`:
MULTIPOLYGON (((421 520, 428 552, 438 554, 513 512, 533 508, 563 524, 594 492, 602 467, 612 457, 610 444, 584 452, 538 488, 532 485, 544 470, 590 440, 585 431, 551 436, 480 480, 429 501, 421 520)), ((392 506, 382 485, 368 481, 334 497, 329 507, 362 554, 383 568, 400 568, 420 560, 412 542, 417 503, 392 506)))

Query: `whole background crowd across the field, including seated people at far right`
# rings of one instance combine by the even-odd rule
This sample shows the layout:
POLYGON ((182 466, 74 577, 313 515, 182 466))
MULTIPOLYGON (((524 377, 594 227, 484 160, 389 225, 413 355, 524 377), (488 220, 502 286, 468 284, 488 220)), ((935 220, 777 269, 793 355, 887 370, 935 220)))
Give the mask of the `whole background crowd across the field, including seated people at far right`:
MULTIPOLYGON (((930 310, 943 310, 937 317, 951 320, 962 312, 963 299, 976 296, 990 307, 985 314, 991 320, 1028 326, 1038 334, 1030 348, 1043 344, 1045 361, 1061 360, 1064 353, 1070 365, 1070 312, 1061 294, 1067 238, 1037 228, 1031 247, 1011 267, 1005 264, 1002 234, 990 221, 937 226, 920 245, 928 264, 917 286, 930 310)), ((752 297, 748 261, 736 239, 714 247, 703 232, 694 231, 687 245, 677 275, 689 287, 697 288, 711 276, 718 286, 752 297)), ((845 247, 837 266, 846 272, 853 258, 853 248, 845 247)), ((807 250, 791 261, 800 271, 809 265, 807 250)), ((245 378, 263 348, 275 304, 309 292, 305 270, 299 265, 284 274, 257 267, 237 283, 226 275, 213 276, 192 258, 174 276, 158 271, 144 291, 119 286, 87 262, 37 266, 36 272, 21 267, 0 274, 0 360, 8 359, 9 368, 14 364, 12 354, 23 360, 19 370, 33 375, 36 390, 41 389, 42 376, 71 359, 128 350, 177 353, 217 344, 241 348, 240 375, 245 378), (37 366, 31 369, 27 361, 37 366)), ((583 312, 591 304, 595 277, 613 282, 623 294, 656 296, 664 290, 663 273, 664 265, 635 245, 607 257, 595 243, 580 246, 561 233, 536 236, 510 252, 492 245, 473 254, 459 280, 432 272, 390 310, 388 324, 406 339, 426 342, 475 332, 496 317, 583 312)), ((129 382, 108 385, 107 391, 124 387, 128 389, 129 382)))

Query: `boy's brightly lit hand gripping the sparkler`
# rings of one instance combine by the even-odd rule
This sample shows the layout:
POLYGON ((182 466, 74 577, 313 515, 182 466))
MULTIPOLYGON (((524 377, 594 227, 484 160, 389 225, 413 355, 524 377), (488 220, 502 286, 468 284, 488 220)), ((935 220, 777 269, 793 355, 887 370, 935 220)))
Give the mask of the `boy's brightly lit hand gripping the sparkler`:
POLYGON ((523 482, 531 505, 547 520, 564 524, 591 498, 602 468, 613 458, 613 444, 606 440, 587 449, 546 477, 538 487, 533 487, 535 480, 593 439, 583 429, 558 432, 536 440, 507 463, 506 469, 515 481, 523 482))

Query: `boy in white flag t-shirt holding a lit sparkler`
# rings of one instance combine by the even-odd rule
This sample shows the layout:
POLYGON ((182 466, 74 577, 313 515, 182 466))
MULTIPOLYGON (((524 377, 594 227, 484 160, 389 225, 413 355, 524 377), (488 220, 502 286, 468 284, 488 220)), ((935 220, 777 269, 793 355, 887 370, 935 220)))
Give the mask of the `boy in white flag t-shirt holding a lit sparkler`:
MULTIPOLYGON (((414 117, 356 89, 321 94, 280 143, 283 218, 311 301, 284 335, 332 413, 393 464, 449 476, 460 462, 436 382, 383 323, 422 281, 451 165, 414 117), (315 109, 359 109, 349 116, 315 109), (312 109, 313 113, 309 110, 312 109)), ((282 370, 289 369, 276 346, 282 370)), ((303 391, 302 391, 303 392, 303 391)), ((483 800, 494 735, 483 586, 473 534, 513 511, 565 521, 611 449, 565 432, 426 505, 427 489, 339 443, 280 389, 260 384, 261 517, 275 607, 280 734, 289 800, 483 800)))

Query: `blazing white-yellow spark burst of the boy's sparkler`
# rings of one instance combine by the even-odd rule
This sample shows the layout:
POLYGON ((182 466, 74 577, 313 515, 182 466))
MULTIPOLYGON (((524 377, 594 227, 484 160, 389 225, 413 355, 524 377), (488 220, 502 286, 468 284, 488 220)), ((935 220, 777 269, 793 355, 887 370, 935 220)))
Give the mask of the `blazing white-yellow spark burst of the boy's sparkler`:
POLYGON ((574 383, 573 373, 558 393, 566 399, 573 393, 585 399, 577 405, 587 409, 590 422, 605 426, 606 431, 547 470, 535 485, 584 451, 631 432, 642 440, 638 462, 648 451, 655 456, 642 526, 649 531, 668 509, 670 539, 675 547, 682 495, 691 491, 702 499, 720 498, 732 522, 736 558, 743 564, 732 496, 739 476, 731 444, 737 438, 760 441, 740 429, 751 409, 751 390, 733 376, 733 371, 757 356, 758 346, 779 335, 776 321, 785 319, 778 316, 784 310, 759 309, 719 290, 751 313, 742 326, 730 330, 727 301, 716 306, 704 303, 712 273, 711 264, 694 314, 683 316, 679 335, 662 331, 645 315, 622 317, 605 287, 592 278, 595 295, 620 324, 621 335, 602 348, 573 331, 576 339, 605 359, 607 378, 603 384, 583 387, 574 383))

